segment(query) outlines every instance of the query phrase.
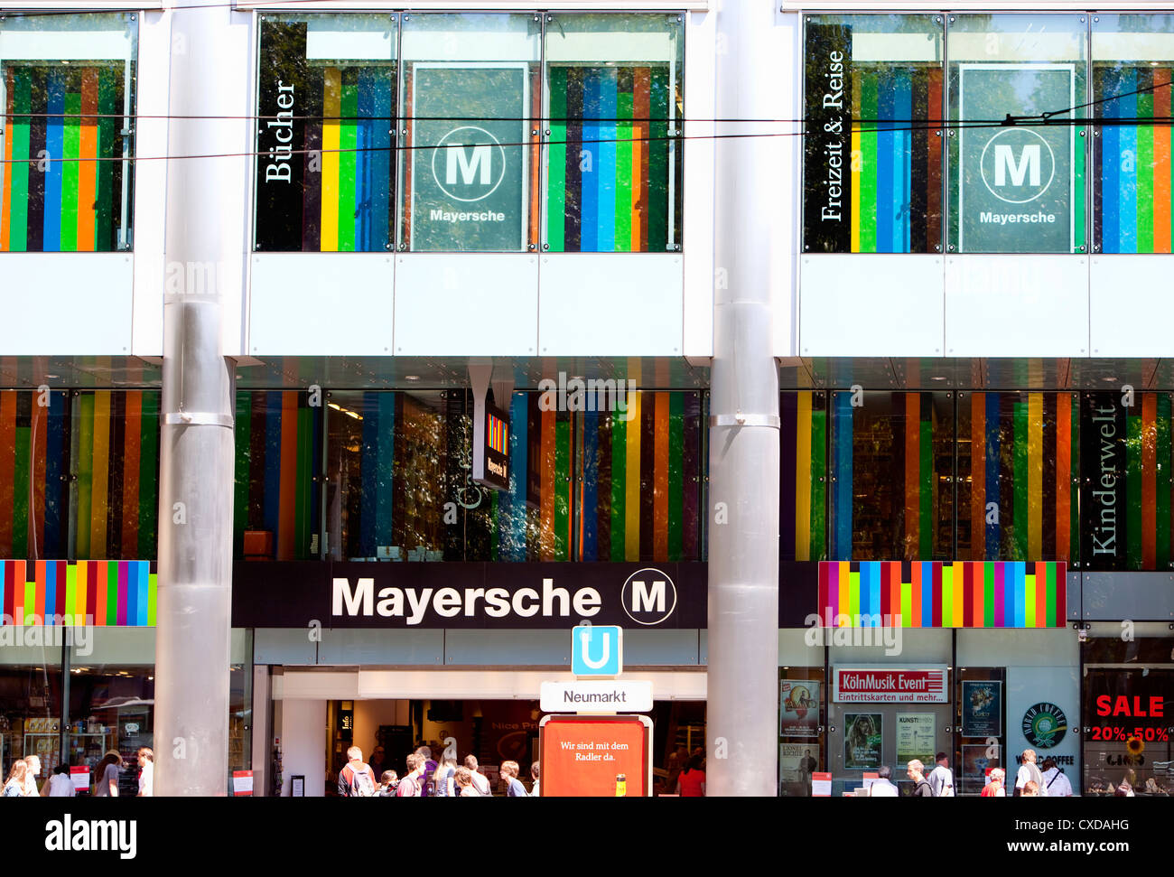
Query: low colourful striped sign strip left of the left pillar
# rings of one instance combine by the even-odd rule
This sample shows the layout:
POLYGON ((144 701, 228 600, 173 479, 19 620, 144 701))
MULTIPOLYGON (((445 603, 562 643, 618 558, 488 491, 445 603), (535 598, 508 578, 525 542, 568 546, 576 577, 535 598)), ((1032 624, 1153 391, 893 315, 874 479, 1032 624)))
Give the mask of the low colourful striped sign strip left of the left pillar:
POLYGON ((0 560, 0 625, 154 627, 149 560, 0 560))

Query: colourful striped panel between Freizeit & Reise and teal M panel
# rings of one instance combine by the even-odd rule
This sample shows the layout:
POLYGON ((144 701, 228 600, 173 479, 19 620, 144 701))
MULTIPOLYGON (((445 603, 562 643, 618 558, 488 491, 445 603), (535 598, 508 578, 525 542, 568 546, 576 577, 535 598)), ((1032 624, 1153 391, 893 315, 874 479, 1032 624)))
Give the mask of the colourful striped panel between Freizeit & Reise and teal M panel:
POLYGON ((942 243, 942 137, 917 124, 942 119, 942 77, 940 68, 853 67, 852 119, 863 121, 851 131, 852 252, 942 243))

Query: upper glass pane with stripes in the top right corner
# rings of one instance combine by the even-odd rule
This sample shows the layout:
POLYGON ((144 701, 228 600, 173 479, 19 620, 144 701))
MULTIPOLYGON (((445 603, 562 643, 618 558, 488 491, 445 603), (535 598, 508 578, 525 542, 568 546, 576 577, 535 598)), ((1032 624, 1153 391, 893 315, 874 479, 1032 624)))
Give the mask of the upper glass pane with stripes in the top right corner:
POLYGON ((1174 15, 1093 18, 1093 244, 1099 252, 1169 252, 1169 119, 1174 15))

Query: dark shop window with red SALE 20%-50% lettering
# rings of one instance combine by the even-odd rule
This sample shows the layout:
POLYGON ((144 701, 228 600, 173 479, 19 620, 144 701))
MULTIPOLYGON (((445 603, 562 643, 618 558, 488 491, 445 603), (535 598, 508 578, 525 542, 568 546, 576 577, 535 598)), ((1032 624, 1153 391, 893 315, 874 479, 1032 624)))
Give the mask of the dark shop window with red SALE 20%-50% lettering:
MULTIPOLYGON (((1136 637, 1092 636, 1084 661, 1084 795, 1174 794, 1174 639, 1167 625, 1136 637)), ((1095 632, 1094 632, 1095 633, 1095 632)))

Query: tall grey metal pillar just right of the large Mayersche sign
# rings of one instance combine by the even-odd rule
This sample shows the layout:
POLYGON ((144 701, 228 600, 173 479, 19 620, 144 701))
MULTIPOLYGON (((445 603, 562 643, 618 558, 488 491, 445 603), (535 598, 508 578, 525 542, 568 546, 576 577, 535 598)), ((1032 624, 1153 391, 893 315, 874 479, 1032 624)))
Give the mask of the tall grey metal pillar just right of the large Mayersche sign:
MULTIPOLYGON (((717 13, 717 117, 775 119, 775 4, 717 13)), ((721 126, 718 133, 761 130, 721 126)), ((716 141, 709 419, 708 795, 776 795, 778 763, 778 370, 771 215, 778 139, 716 141)), ((784 204, 785 207, 785 204, 784 204)), ((788 286, 789 288, 789 286, 788 286)))

